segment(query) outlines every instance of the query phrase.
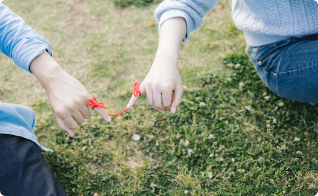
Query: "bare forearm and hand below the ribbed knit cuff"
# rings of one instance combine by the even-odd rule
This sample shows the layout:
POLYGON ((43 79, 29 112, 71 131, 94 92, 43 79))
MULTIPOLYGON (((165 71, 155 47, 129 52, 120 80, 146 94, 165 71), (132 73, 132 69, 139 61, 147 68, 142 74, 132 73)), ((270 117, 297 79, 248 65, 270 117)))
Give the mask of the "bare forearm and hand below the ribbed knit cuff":
MULTIPOLYGON (((159 112, 170 107, 170 112, 174 114, 180 104, 183 86, 178 57, 186 33, 184 18, 175 17, 162 23, 154 63, 140 85, 141 93, 146 92, 148 104, 159 112)), ((137 98, 132 95, 127 107, 132 107, 137 98)))

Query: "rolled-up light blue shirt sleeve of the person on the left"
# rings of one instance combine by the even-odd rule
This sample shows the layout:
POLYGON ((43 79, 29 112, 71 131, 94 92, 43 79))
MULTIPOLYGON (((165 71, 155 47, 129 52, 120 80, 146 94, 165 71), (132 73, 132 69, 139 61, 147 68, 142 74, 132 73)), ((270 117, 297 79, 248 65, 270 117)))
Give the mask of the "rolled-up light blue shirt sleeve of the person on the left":
POLYGON ((50 44, 24 20, 0 3, 0 51, 12 58, 22 69, 29 69, 31 61, 45 50, 52 55, 50 44))

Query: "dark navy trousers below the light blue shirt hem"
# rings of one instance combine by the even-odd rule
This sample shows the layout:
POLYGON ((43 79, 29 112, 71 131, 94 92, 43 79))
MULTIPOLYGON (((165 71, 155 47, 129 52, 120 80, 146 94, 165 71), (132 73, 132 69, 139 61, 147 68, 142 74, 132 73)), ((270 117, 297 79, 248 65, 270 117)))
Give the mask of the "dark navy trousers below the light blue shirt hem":
POLYGON ((66 196, 39 147, 6 134, 0 134, 0 195, 66 196))

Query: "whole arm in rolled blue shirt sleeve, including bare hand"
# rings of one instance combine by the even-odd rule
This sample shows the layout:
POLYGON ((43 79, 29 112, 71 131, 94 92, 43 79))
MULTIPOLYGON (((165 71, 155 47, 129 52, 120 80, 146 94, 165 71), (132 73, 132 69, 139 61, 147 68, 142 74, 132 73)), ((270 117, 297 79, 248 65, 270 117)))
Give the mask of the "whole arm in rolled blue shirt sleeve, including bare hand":
MULTIPOLYGON (((65 72, 52 58, 49 42, 24 20, 0 3, 0 51, 22 69, 33 72, 47 92, 60 129, 72 137, 78 124, 90 117, 86 100, 91 98, 83 85, 65 72)), ((110 116, 94 108, 106 121, 110 116)))

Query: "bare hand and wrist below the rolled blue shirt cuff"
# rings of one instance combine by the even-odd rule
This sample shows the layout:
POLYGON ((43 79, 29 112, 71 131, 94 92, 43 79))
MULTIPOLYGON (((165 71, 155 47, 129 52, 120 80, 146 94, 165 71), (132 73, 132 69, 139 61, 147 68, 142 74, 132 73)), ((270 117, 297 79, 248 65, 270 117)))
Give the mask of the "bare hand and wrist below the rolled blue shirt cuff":
MULTIPOLYGON (((79 124, 91 116, 87 99, 92 96, 47 51, 35 57, 29 69, 46 90, 52 113, 60 129, 74 137, 79 124)), ((103 108, 95 107, 94 110, 105 121, 111 121, 111 117, 103 108)))

